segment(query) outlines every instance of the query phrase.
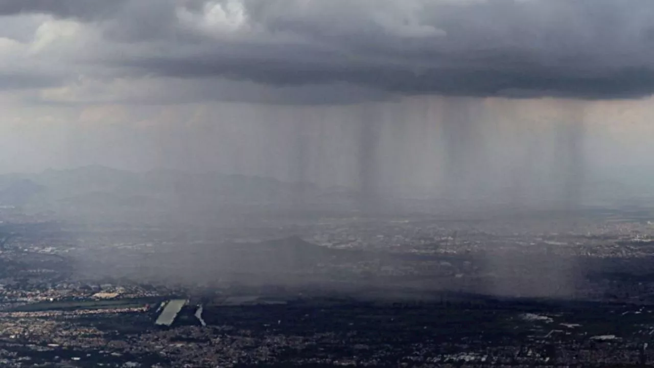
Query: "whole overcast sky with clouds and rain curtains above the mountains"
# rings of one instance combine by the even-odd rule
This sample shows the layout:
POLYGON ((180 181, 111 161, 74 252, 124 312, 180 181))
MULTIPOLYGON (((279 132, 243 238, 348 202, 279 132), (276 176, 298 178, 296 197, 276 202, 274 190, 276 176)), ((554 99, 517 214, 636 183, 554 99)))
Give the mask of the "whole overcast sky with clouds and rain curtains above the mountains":
POLYGON ((464 175, 449 166, 519 181, 654 153, 651 0, 3 0, 0 14, 0 172, 362 184, 379 166, 364 171, 431 185, 464 175))

